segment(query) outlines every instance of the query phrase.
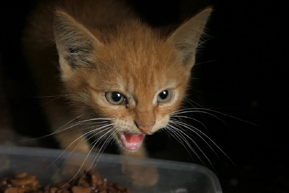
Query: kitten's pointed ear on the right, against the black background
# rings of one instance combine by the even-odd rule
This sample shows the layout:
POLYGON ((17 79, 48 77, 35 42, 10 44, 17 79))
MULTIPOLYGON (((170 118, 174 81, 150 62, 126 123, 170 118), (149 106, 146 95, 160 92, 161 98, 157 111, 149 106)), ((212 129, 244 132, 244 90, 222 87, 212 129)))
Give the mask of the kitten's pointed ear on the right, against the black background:
POLYGON ((211 7, 202 10, 178 27, 167 39, 179 52, 181 63, 189 68, 195 63, 196 49, 211 12, 211 7))

